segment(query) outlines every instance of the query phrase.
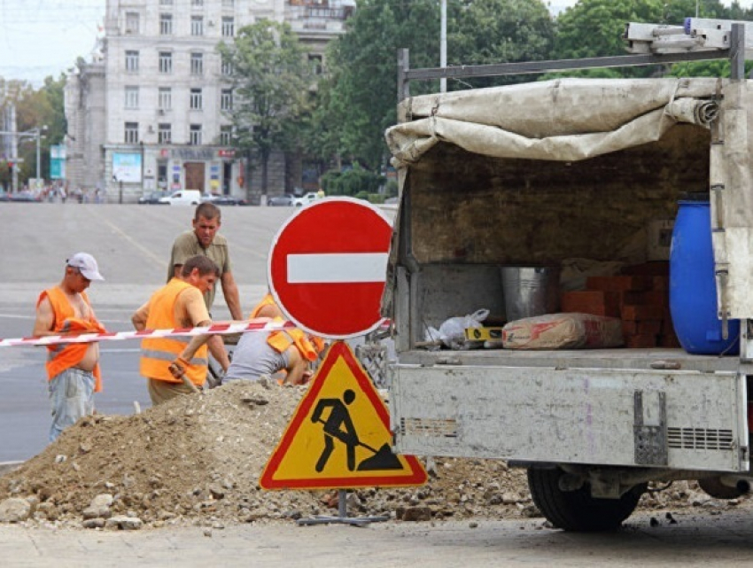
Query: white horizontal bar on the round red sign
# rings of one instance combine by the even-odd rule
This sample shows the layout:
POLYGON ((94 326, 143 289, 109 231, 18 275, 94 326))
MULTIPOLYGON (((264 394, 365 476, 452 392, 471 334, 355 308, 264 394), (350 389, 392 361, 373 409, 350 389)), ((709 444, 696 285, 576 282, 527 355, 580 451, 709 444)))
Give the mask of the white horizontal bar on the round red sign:
POLYGON ((289 284, 384 282, 387 253, 288 254, 289 284))

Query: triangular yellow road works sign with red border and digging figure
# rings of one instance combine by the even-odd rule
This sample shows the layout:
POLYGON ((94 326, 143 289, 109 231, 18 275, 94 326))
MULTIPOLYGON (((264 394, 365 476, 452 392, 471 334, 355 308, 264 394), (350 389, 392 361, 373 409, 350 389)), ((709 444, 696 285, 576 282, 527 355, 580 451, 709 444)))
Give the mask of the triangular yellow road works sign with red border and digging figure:
POLYGON ((342 341, 330 346, 259 481, 264 489, 420 486, 413 455, 392 454, 390 416, 342 341))

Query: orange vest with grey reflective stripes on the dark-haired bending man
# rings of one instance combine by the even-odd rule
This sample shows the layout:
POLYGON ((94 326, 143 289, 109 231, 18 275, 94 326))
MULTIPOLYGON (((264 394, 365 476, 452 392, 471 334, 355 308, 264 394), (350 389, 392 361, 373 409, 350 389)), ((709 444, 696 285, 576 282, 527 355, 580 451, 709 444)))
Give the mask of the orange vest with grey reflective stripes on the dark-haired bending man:
MULTIPOLYGON (((149 300, 149 315, 146 318, 146 328, 149 330, 165 330, 175 328, 175 302, 178 295, 191 284, 179 278, 173 278, 151 296, 149 300)), ((141 342, 141 374, 167 383, 181 383, 168 370, 171 362, 182 353, 189 343, 183 338, 145 338, 141 342)), ((199 347, 193 359, 185 370, 186 377, 194 385, 204 385, 206 367, 208 365, 206 345, 199 347)))

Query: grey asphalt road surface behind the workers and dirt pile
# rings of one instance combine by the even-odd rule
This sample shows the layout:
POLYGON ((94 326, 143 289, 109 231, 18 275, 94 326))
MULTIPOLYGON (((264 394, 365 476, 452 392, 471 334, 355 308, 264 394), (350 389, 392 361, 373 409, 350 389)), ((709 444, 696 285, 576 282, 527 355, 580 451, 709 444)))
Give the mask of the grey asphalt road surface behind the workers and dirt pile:
MULTIPOLYGON (((63 274, 66 258, 94 254, 104 283, 89 296, 111 331, 132 330, 130 315, 165 282, 173 239, 190 229, 193 207, 0 203, 0 337, 26 337, 34 323, 37 295, 63 274)), ((266 291, 267 253, 289 207, 224 207, 221 232, 231 244, 233 271, 244 312, 266 291)), ((217 294, 213 315, 229 317, 217 294)), ((103 343, 105 389, 97 408, 132 414, 133 403, 150 406, 138 373, 135 341, 103 343)), ((0 463, 26 460, 47 443, 45 351, 0 348, 0 463)))

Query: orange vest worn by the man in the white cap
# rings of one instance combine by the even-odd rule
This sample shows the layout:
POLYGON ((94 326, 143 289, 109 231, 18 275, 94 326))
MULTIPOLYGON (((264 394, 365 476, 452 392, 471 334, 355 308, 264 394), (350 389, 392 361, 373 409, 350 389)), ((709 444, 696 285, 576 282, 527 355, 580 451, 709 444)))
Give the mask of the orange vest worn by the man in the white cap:
MULTIPOLYGON (((86 305, 91 307, 89 296, 86 295, 86 292, 82 292, 81 295, 86 305)), ((39 307, 39 304, 45 298, 50 300, 52 313, 55 315, 52 331, 105 333, 105 328, 97 321, 97 318, 91 317, 89 320, 82 320, 76 317, 74 307, 68 301, 66 292, 63 292, 59 286, 55 286, 39 294, 39 299, 36 300, 36 307, 39 307)), ((79 364, 84 355, 86 355, 87 349, 89 349, 88 343, 58 343, 57 345, 47 346, 47 363, 45 364, 47 368, 47 380, 51 381, 64 370, 79 364)), ((102 390, 102 374, 98 362, 92 374, 94 375, 94 392, 98 393, 102 390)))

